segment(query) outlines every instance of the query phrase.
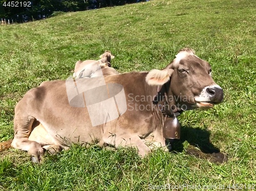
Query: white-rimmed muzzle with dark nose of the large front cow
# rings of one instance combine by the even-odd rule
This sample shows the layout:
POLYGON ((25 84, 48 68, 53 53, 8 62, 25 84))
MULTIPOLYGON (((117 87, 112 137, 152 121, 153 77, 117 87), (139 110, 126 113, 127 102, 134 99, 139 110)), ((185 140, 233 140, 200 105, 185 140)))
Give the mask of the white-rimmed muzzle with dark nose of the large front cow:
POLYGON ((223 101, 223 89, 219 85, 210 85, 203 88, 199 96, 195 96, 199 108, 212 108, 223 101))

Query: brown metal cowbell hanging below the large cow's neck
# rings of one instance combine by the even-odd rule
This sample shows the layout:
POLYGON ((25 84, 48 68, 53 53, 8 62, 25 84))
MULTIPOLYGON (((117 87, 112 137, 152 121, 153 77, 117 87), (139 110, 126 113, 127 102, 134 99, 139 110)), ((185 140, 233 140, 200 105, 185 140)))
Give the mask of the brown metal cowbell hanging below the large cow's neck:
POLYGON ((167 117, 163 125, 163 137, 180 139, 180 122, 176 117, 167 117))

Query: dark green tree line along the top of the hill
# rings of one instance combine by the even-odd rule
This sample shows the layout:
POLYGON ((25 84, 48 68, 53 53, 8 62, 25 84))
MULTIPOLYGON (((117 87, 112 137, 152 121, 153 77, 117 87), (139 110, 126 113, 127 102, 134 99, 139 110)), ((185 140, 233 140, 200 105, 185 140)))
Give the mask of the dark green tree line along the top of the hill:
POLYGON ((0 0, 0 18, 26 22, 44 19, 63 12, 86 11, 147 0, 0 0))

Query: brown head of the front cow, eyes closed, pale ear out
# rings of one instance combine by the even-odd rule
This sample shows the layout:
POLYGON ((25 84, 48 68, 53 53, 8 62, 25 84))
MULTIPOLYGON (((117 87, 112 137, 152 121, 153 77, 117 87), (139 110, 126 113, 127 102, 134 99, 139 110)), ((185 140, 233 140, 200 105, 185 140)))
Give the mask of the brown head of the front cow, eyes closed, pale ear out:
POLYGON ((223 90, 211 78, 211 66, 191 49, 183 49, 164 69, 151 70, 149 85, 164 87, 168 103, 179 109, 211 108, 223 100, 223 90))

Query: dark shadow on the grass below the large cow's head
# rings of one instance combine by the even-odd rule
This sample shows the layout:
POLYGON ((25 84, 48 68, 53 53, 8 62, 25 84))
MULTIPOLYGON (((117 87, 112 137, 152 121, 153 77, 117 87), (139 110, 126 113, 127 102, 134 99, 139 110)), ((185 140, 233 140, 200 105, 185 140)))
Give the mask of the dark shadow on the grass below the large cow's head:
POLYGON ((181 139, 172 142, 171 152, 182 152, 184 150, 183 142, 187 141, 191 146, 198 149, 189 148, 187 154, 198 158, 208 159, 214 163, 223 163, 227 161, 227 156, 220 152, 216 146, 210 142, 210 132, 200 128, 181 127, 181 139))

